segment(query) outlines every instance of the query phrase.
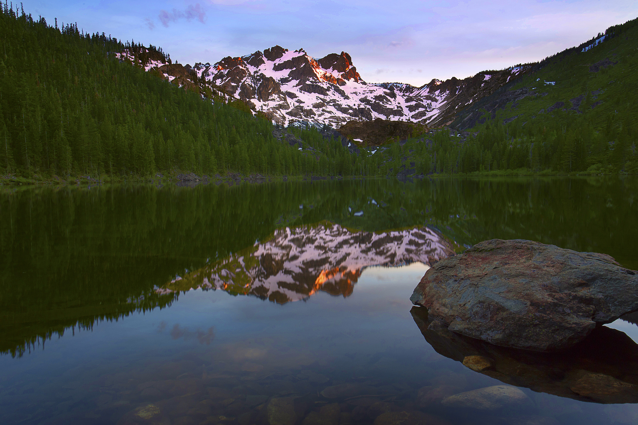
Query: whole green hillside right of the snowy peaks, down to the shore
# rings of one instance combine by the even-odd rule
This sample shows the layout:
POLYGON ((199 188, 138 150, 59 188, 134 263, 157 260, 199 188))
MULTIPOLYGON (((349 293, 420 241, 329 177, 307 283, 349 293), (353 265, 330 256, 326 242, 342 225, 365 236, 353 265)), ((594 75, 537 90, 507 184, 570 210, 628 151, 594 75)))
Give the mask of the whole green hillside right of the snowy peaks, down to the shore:
POLYGON ((406 174, 638 173, 637 45, 638 19, 609 27, 386 158, 406 174))

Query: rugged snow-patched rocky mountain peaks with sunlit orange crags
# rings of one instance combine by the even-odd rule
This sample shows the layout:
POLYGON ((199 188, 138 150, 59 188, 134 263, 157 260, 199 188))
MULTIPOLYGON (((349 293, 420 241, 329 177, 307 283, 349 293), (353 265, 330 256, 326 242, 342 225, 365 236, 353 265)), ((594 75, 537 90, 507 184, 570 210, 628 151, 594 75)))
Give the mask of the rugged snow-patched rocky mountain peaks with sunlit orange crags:
POLYGON ((242 57, 228 56, 212 65, 187 67, 197 73, 198 80, 241 99, 274 122, 297 120, 332 127, 349 120, 374 119, 444 126, 459 110, 533 69, 521 65, 463 80, 432 80, 421 87, 367 83, 346 52, 315 59, 303 49, 290 51, 279 46, 242 57))

